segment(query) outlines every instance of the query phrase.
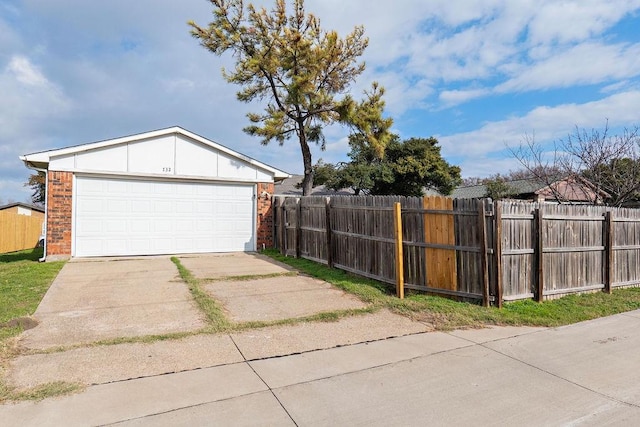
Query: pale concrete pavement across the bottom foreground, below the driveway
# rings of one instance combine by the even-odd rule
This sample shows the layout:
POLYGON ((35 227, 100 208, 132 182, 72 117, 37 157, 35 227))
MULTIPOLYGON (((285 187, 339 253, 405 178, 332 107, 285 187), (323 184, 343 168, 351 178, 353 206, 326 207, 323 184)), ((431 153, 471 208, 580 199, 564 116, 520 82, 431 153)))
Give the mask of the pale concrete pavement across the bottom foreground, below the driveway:
MULTIPOLYGON (((8 425, 631 425, 640 311, 252 359, 0 406, 8 425)), ((234 342, 236 337, 231 336, 234 342)))

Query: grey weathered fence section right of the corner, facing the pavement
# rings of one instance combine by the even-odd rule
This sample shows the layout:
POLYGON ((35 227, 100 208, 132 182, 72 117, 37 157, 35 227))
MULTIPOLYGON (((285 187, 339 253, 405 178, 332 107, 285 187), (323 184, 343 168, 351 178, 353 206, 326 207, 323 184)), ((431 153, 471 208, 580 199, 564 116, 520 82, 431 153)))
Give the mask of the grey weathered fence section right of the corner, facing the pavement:
POLYGON ((542 301, 640 285, 640 210, 499 202, 499 289, 542 301))

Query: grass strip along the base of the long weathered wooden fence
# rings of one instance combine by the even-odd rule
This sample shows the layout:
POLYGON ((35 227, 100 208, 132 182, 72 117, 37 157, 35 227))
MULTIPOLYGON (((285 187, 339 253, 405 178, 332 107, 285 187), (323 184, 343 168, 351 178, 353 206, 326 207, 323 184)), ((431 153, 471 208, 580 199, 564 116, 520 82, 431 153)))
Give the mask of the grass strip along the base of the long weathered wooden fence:
POLYGON ((264 252, 302 273, 325 280, 377 307, 432 323, 436 329, 482 327, 484 325, 561 326, 640 309, 640 288, 571 295, 537 303, 532 300, 505 304, 502 309, 457 302, 448 298, 409 292, 404 300, 395 288, 375 280, 330 269, 306 259, 287 258, 275 250, 264 252))

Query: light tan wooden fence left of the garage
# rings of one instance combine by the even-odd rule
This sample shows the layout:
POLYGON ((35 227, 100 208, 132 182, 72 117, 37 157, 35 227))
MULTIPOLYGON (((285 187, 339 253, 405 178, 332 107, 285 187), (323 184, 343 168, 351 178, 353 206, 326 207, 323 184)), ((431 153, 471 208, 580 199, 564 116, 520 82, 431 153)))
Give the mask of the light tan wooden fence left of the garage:
POLYGON ((35 248, 42 232, 42 218, 0 212, 0 253, 35 248))

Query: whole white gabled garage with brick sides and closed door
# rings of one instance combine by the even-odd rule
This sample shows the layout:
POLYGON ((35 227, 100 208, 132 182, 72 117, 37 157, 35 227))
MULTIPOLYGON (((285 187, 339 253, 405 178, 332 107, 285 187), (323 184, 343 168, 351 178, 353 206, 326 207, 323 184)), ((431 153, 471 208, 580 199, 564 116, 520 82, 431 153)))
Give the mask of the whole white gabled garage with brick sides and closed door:
POLYGON ((179 127, 28 154, 50 258, 255 251, 289 175, 179 127))

